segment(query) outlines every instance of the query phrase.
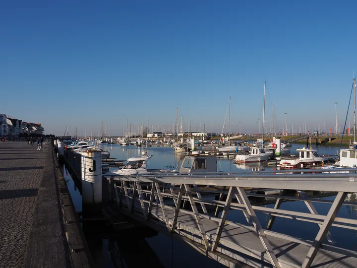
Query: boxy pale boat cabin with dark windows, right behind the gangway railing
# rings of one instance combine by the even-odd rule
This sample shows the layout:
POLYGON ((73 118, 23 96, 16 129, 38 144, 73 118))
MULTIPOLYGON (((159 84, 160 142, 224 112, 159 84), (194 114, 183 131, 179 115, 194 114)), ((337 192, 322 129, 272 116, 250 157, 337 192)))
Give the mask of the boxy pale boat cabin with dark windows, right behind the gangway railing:
POLYGON ((179 172, 217 172, 217 158, 214 155, 187 155, 183 158, 179 172))

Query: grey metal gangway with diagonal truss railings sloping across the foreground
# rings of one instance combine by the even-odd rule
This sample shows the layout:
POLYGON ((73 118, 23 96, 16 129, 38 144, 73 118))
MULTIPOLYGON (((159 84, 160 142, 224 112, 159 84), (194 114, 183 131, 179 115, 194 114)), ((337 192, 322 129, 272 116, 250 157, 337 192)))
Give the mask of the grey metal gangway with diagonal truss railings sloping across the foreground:
POLYGON ((356 251, 334 246, 333 233, 329 232, 331 226, 357 230, 356 219, 337 217, 341 206, 357 206, 357 202, 346 201, 348 193, 357 192, 356 169, 339 169, 351 173, 326 174, 326 171, 161 173, 108 180, 112 200, 120 212, 184 240, 227 267, 356 268, 356 251), (280 192, 264 195, 254 189, 280 192), (295 190, 297 195, 289 196, 287 190, 295 190), (306 191, 330 192, 335 198, 309 198, 306 191), (252 198, 274 199, 274 207, 252 205, 252 198), (283 201, 301 201, 310 213, 281 209, 283 201), (183 203, 189 204, 190 209, 183 203), (318 214, 316 203, 328 204, 328 213, 318 214), (232 210, 240 210, 246 223, 228 220, 232 210), (269 218, 265 228, 257 213, 269 218), (295 236, 272 231, 279 217, 317 224, 319 231, 313 240, 299 238, 303 230, 296 230, 295 236))

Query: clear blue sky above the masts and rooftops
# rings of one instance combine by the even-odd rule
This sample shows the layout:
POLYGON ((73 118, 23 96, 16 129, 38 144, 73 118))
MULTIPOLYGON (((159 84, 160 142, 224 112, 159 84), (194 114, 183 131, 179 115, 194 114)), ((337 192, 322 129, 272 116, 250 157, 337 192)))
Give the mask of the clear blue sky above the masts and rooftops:
POLYGON ((178 107, 184 129, 190 120, 193 131, 221 132, 231 95, 232 132, 241 122, 257 133, 266 81, 266 128, 273 101, 276 129, 284 113, 297 131, 332 128, 337 101, 342 129, 356 10, 356 1, 3 0, 0 112, 47 134, 67 123, 69 134, 97 133, 103 120, 118 135, 126 120, 172 127, 178 107))

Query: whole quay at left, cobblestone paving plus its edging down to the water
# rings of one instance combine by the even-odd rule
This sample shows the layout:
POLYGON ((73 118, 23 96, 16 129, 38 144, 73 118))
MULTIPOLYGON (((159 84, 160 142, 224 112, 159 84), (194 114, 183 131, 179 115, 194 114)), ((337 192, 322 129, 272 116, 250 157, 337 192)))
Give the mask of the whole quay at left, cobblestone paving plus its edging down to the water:
POLYGON ((0 142, 0 268, 92 267, 67 191, 52 144, 0 142))

